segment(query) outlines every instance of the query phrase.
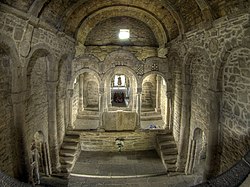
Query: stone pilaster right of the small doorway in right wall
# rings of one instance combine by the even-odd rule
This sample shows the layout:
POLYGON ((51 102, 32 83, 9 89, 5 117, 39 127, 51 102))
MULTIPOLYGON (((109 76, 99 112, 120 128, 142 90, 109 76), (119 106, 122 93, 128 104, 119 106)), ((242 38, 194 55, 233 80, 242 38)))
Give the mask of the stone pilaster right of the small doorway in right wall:
POLYGON ((206 162, 205 162, 205 179, 214 177, 218 171, 218 123, 219 123, 219 99, 220 92, 209 90, 210 102, 209 102, 209 124, 208 124, 208 143, 206 150, 206 162))

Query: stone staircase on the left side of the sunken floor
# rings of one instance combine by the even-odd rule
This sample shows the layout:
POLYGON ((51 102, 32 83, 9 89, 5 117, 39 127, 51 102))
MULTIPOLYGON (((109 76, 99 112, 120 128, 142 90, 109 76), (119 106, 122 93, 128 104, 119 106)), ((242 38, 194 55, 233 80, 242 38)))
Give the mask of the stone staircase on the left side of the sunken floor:
POLYGON ((62 177, 68 177, 80 152, 80 135, 74 131, 67 131, 59 153, 62 177))

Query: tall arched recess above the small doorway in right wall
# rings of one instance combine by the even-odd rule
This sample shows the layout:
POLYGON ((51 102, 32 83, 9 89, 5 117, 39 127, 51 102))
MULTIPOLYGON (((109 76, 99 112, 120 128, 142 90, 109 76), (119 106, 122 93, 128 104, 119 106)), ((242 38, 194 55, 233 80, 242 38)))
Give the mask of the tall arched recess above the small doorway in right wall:
POLYGON ((186 163, 189 164, 186 160, 188 146, 185 142, 189 140, 190 129, 198 124, 201 129, 208 131, 206 172, 211 171, 213 162, 216 161, 218 121, 215 116, 219 111, 214 107, 218 101, 216 91, 212 90, 212 76, 213 68, 206 51, 200 48, 191 49, 185 57, 183 67, 182 117, 177 161, 180 170, 184 170, 186 163))

